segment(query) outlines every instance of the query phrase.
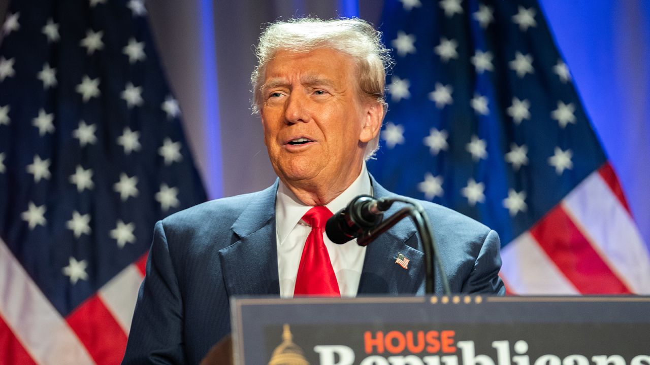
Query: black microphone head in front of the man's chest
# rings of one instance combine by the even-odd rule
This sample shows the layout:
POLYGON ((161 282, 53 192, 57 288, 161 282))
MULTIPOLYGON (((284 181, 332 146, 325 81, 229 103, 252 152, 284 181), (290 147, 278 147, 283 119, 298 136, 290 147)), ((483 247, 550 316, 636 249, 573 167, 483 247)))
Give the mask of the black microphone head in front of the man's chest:
POLYGON ((344 244, 378 225, 383 212, 391 204, 370 195, 359 195, 347 207, 331 216, 325 225, 325 233, 331 242, 344 244))

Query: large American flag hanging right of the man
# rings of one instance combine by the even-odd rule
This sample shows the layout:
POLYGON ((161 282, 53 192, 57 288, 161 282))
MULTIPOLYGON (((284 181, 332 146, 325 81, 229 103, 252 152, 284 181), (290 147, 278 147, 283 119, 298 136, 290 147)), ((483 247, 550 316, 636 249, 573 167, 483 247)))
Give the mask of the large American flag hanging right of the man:
POLYGON ((495 229, 513 294, 650 293, 650 258, 534 0, 390 0, 384 186, 495 229))

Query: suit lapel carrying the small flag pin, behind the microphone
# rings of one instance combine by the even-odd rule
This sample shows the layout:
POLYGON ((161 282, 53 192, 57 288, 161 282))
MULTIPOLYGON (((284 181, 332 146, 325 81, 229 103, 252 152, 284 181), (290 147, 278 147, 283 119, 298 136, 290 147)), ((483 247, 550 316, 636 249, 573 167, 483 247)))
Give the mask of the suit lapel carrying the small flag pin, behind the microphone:
MULTIPOLYGON (((370 181, 375 197, 394 195, 378 184, 372 175, 370 181)), ((400 208, 402 205, 395 204, 384 216, 392 216, 400 208)), ((415 225, 406 218, 367 246, 358 294, 424 293, 424 254, 415 231, 415 225), (400 253, 409 259, 408 269, 395 263, 400 253)))

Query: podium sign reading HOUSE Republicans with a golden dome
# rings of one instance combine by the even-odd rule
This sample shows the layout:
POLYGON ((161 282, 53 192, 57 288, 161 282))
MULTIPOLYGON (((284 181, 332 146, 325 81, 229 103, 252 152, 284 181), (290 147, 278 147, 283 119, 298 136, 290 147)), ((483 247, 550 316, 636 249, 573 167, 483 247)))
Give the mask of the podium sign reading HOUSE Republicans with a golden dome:
POLYGON ((650 365, 650 297, 235 298, 235 364, 650 365))

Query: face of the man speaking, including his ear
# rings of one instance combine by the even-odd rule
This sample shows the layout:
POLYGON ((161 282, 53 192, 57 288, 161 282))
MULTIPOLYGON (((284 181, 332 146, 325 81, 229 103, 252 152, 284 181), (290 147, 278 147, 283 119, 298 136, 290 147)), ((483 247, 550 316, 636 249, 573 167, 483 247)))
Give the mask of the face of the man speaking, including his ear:
POLYGON ((361 101, 355 71, 350 56, 328 48, 279 51, 266 66, 265 144, 285 184, 330 184, 342 191, 356 179, 383 110, 361 101))

